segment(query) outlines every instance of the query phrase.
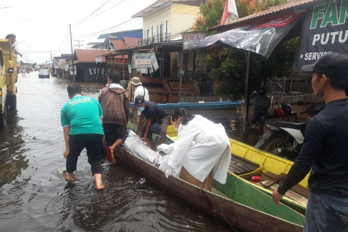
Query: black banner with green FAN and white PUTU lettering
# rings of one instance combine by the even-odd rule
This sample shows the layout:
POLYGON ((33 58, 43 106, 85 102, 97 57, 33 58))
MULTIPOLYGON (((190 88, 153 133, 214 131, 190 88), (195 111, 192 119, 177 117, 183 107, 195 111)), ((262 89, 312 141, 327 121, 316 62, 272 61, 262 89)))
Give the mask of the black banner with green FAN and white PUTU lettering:
POLYGON ((328 1, 307 10, 294 67, 313 64, 327 52, 348 55, 348 0, 328 1))

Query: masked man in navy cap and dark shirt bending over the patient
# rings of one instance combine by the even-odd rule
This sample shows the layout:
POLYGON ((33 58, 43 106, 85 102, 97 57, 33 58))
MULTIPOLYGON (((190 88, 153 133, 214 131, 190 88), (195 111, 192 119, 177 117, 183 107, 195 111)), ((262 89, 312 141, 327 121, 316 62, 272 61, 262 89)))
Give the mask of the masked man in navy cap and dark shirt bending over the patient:
POLYGON ((155 102, 145 101, 144 97, 141 95, 135 97, 134 106, 141 112, 137 130, 140 131, 141 137, 144 138, 144 141, 151 145, 151 149, 156 149, 156 146, 152 141, 153 130, 150 130, 150 127, 155 123, 159 125, 159 144, 162 144, 167 136, 169 120, 168 112, 155 102), (142 124, 141 122, 144 121, 145 117, 147 120, 142 124))

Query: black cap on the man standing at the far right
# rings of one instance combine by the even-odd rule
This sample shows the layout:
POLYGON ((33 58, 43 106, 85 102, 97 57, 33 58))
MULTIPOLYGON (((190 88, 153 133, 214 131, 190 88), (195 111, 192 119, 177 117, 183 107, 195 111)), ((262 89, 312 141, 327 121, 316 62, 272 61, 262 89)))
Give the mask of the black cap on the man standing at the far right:
POLYGON ((329 78, 343 79, 348 77, 348 56, 341 53, 325 53, 314 64, 304 65, 302 72, 317 72, 329 78))

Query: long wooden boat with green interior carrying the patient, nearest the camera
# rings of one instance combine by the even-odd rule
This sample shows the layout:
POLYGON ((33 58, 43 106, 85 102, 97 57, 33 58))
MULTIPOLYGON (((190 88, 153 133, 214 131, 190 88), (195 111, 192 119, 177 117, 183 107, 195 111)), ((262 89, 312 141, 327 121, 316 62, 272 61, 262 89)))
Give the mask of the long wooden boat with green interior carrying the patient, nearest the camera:
MULTIPOLYGON (((132 123, 129 123, 128 126, 132 129, 136 128, 132 123)), ((154 138, 156 139, 155 135, 154 138)), ((166 143, 173 142, 174 141, 168 137, 166 143)), ((243 230, 283 232, 302 231, 303 229, 304 216, 302 214, 283 204, 280 207, 276 206, 271 197, 259 189, 253 188, 253 192, 244 194, 243 189, 234 188, 231 190, 234 191, 234 194, 227 195, 220 191, 219 186, 216 186, 215 183, 211 191, 206 191, 174 176, 166 178, 164 171, 143 161, 141 158, 122 147, 118 147, 115 154, 122 161, 126 162, 144 176, 152 179, 153 182, 161 187, 166 188, 196 207, 226 220, 243 230), (249 197, 250 194, 253 194, 253 196, 249 197), (245 199, 241 200, 241 198, 245 199)), ((237 182, 241 185, 244 183, 242 179, 237 179, 237 182)), ((226 184, 226 188, 228 188, 228 186, 229 185, 226 184)), ((229 192, 227 191, 227 193, 229 192)))

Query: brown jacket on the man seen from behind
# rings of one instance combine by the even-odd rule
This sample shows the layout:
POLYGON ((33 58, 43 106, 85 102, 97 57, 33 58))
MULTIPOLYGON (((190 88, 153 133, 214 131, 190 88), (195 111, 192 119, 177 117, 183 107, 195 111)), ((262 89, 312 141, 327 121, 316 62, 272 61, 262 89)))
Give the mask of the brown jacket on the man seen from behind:
POLYGON ((127 125, 129 112, 128 91, 118 84, 100 90, 98 101, 103 110, 103 123, 127 125))

